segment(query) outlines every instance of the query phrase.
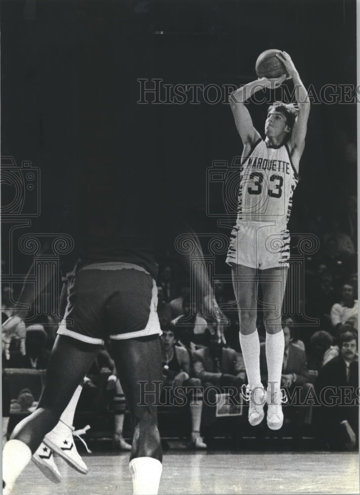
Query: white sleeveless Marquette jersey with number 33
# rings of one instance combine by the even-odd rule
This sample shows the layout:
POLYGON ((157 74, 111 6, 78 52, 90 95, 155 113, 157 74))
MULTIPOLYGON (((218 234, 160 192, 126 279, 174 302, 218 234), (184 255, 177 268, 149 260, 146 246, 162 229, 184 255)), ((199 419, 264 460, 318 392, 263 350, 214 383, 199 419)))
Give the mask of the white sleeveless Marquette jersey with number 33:
POLYGON ((237 223, 275 222, 286 228, 298 180, 287 144, 267 147, 260 139, 240 167, 237 223))

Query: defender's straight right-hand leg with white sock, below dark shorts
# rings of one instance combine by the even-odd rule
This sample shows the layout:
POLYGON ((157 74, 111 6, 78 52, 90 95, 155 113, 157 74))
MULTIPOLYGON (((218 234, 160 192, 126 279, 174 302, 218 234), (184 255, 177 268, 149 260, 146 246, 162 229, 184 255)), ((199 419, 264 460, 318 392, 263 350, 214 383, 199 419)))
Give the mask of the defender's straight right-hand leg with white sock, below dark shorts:
POLYGON ((162 470, 157 417, 162 381, 159 335, 114 340, 112 348, 134 432, 130 453, 134 494, 157 494, 162 470))

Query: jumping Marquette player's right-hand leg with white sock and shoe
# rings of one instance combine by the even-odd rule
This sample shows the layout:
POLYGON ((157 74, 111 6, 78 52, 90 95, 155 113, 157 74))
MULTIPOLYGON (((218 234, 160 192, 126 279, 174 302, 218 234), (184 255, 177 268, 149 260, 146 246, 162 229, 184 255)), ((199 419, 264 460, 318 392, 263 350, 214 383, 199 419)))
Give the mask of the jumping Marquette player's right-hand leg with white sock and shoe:
POLYGON ((268 367, 267 422, 272 430, 281 428, 283 422, 280 384, 284 357, 284 334, 281 328, 281 309, 286 276, 287 268, 285 267, 261 270, 268 367))

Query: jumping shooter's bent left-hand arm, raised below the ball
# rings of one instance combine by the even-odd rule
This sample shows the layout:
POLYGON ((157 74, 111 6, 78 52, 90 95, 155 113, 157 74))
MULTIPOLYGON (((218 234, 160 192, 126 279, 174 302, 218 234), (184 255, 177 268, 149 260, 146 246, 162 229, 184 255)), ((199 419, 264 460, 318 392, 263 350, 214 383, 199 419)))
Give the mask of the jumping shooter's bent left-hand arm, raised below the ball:
POLYGON ((245 101, 257 91, 265 88, 278 87, 285 78, 286 76, 281 76, 279 79, 267 79, 266 77, 262 77, 261 79, 241 86, 230 95, 230 108, 232 109, 235 125, 244 147, 252 147, 256 141, 261 138, 260 134, 254 128, 250 113, 244 104, 245 101))

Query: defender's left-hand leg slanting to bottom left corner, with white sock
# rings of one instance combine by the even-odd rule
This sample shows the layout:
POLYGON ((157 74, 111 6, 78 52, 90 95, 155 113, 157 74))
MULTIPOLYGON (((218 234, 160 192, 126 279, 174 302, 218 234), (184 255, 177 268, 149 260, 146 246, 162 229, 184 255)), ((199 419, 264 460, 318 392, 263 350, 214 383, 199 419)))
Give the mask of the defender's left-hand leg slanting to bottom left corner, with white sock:
POLYGON ((38 408, 15 428, 3 450, 4 494, 50 432, 87 373, 99 346, 85 344, 67 336, 58 336, 48 364, 44 390, 38 408), (16 459, 16 462, 14 462, 16 459))

